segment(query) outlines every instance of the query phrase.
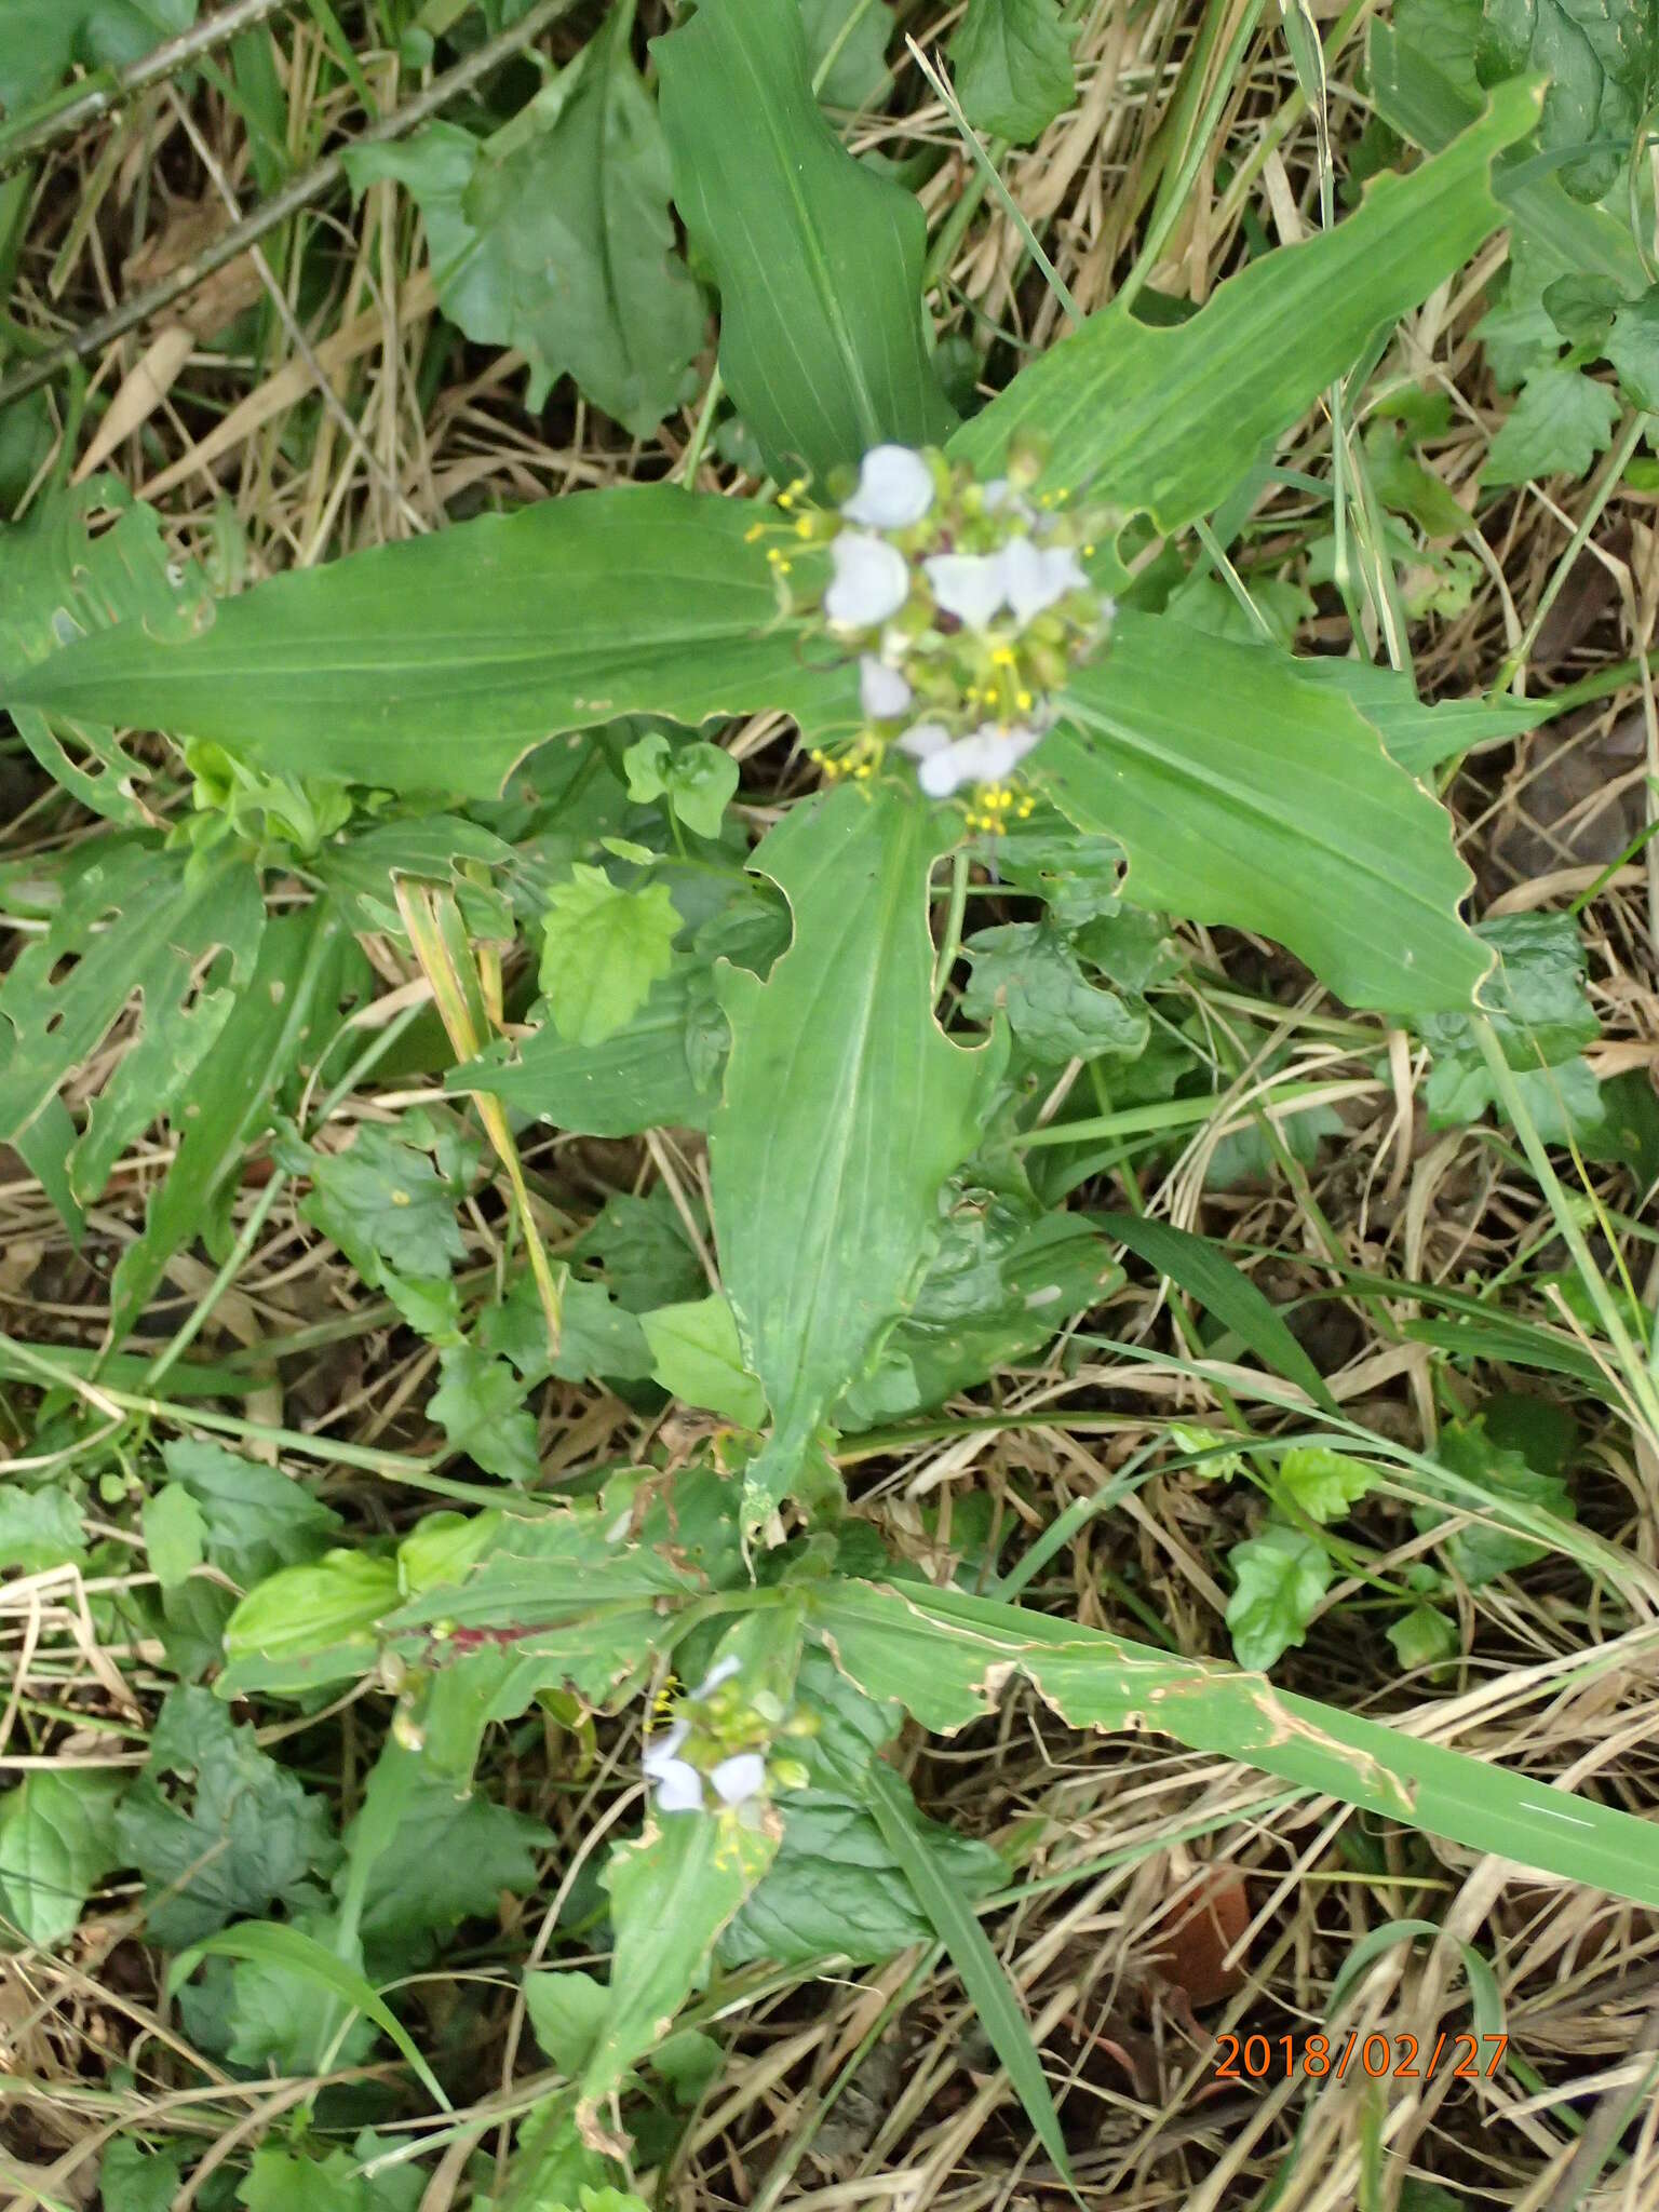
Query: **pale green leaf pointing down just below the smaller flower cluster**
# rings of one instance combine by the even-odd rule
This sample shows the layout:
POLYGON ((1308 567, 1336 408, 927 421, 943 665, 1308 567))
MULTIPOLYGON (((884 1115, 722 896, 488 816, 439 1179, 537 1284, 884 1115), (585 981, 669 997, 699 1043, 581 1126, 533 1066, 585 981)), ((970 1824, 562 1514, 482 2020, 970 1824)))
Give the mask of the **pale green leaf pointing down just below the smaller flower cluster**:
POLYGON ((730 1816, 681 1812, 659 1816, 639 1843, 611 1854, 602 1876, 617 1931, 611 2002, 575 2108, 593 2150, 626 2154, 626 2146, 604 2130, 602 2110, 635 2059, 672 2028, 714 1938, 772 1865, 776 1847, 776 1816, 765 1829, 748 1829, 730 1816))

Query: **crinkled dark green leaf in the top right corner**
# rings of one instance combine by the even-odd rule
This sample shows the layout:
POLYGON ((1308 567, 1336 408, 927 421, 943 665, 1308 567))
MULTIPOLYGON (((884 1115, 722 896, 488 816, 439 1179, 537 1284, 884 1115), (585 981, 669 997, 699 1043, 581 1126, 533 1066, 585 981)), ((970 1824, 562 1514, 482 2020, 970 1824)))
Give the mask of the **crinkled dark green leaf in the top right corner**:
POLYGON ((1648 0, 1484 0, 1475 71, 1548 77, 1540 144, 1577 199, 1601 199, 1628 159, 1655 77, 1659 24, 1648 0))

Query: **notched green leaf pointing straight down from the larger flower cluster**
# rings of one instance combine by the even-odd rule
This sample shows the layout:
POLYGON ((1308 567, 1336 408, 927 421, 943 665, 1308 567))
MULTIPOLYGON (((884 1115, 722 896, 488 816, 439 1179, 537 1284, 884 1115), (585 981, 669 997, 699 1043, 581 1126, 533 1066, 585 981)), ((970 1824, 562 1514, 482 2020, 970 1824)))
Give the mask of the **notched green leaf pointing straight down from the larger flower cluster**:
POLYGON ((933 1022, 931 807, 843 785, 796 807, 754 865, 794 942, 768 982, 719 969, 732 1055, 710 1166, 721 1272, 774 1433, 745 1517, 790 1489, 814 1431, 905 1312, 938 1241, 940 1190, 969 1157, 1002 1044, 933 1022))

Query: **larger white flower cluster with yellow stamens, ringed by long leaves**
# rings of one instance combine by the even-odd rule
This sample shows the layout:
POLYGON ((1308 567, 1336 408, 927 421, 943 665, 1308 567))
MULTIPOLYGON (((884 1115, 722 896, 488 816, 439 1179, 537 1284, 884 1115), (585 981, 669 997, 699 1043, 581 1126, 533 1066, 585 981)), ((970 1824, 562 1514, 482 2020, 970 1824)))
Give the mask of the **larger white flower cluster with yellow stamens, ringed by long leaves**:
MULTIPOLYGON (((1009 779, 1053 726, 1068 668, 1113 622, 1084 568, 1104 518, 1035 493, 1037 473, 1037 456, 1015 451, 1009 473, 982 484, 942 453, 878 445, 838 509, 792 524, 827 549, 823 617, 858 653, 865 719, 849 743, 814 752, 825 776, 872 776, 891 745, 929 799, 971 790, 969 827, 1031 812, 1009 779)), ((779 504, 792 509, 799 491, 779 504)), ((768 560, 792 573, 787 546, 768 560)))

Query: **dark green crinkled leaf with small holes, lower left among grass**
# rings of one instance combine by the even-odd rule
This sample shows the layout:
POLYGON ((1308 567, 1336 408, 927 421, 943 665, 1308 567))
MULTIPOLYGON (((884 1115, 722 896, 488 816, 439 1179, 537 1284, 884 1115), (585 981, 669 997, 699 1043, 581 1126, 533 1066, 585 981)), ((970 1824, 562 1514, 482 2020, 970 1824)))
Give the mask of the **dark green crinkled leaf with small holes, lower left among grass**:
POLYGON ((192 1686, 168 1692, 115 1827, 144 1876, 148 1936, 166 1951, 268 1911, 338 1856, 323 1798, 192 1686))

